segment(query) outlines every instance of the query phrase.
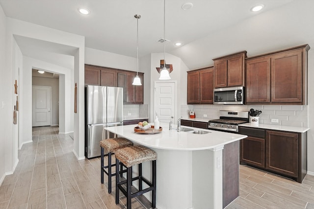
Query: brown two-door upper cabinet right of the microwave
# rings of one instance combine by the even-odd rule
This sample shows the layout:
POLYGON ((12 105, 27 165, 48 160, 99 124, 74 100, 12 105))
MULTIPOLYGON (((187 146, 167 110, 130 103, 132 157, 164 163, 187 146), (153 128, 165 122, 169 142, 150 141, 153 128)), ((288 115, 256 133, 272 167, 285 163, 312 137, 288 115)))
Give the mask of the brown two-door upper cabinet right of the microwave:
POLYGON ((246 104, 307 104, 309 45, 246 60, 246 104))

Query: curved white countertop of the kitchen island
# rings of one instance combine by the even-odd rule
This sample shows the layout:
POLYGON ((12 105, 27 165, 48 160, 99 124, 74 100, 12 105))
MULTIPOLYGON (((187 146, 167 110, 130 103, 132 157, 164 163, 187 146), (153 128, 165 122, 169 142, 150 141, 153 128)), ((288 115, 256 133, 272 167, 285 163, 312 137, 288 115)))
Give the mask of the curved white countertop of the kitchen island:
MULTIPOLYGON (((153 124, 152 124, 153 125, 153 124)), ((147 146, 150 148, 166 149, 166 150, 205 150, 222 146, 240 139, 244 139, 246 135, 213 131, 208 129, 192 128, 194 130, 208 131, 208 134, 193 134, 188 132, 177 132, 177 130, 169 130, 168 123, 160 123, 162 132, 157 134, 140 134, 134 132, 136 125, 124 125, 106 127, 105 129, 130 139, 131 141, 147 146)))

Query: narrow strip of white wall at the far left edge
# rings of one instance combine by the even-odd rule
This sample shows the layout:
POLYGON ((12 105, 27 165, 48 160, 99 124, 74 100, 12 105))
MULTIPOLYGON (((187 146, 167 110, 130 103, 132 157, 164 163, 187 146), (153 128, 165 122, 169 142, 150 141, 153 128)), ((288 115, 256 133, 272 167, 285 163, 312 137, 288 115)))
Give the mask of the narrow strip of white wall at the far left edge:
MULTIPOLYGON (((2 10, 2 7, 0 5, 0 116, 2 119, 0 120, 0 184, 2 183, 4 177, 5 177, 5 156, 4 156, 4 150, 5 150, 5 135, 6 135, 6 128, 8 127, 8 121, 5 118, 7 116, 5 114, 5 109, 2 107, 2 102, 5 102, 5 91, 8 89, 8 87, 4 86, 6 84, 5 80, 8 80, 5 76, 6 73, 6 63, 5 63, 5 35, 6 35, 6 22, 5 22, 5 15, 2 10)), ((6 109, 8 110, 8 109, 6 109)))

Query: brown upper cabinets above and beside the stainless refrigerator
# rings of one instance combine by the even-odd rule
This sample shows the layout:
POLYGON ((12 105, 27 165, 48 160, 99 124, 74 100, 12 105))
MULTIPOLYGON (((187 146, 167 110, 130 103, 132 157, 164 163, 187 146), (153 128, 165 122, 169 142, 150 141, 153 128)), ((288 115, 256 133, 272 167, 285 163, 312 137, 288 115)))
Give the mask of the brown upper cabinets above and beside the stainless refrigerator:
POLYGON ((123 87, 124 104, 144 103, 144 73, 138 72, 141 86, 133 86, 134 71, 85 65, 85 85, 123 87))

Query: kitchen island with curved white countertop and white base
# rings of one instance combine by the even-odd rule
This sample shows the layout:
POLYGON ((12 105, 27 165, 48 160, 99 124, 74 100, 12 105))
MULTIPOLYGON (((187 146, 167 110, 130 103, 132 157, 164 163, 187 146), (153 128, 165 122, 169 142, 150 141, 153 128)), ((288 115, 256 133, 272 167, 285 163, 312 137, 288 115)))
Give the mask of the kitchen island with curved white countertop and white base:
MULTIPOLYGON (((157 152, 157 209, 222 209, 222 150, 247 136, 199 128, 193 129, 209 133, 193 134, 169 130, 167 123, 160 126, 163 130, 157 134, 134 133, 135 125, 105 129, 157 152)), ((150 162, 143 163, 148 179, 150 166, 150 162)))

